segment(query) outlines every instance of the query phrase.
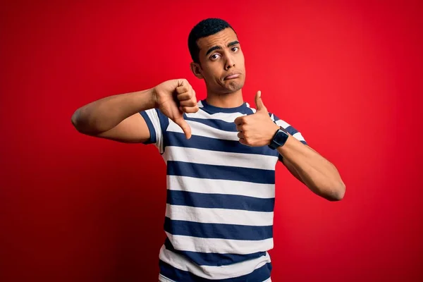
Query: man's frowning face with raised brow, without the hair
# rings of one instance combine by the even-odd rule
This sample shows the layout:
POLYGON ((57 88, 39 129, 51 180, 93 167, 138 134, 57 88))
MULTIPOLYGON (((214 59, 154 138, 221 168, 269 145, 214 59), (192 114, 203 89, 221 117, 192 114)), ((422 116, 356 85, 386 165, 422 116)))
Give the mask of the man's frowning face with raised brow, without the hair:
POLYGON ((245 82, 244 54, 238 37, 231 28, 197 40, 200 48, 200 73, 207 90, 232 93, 245 82))

